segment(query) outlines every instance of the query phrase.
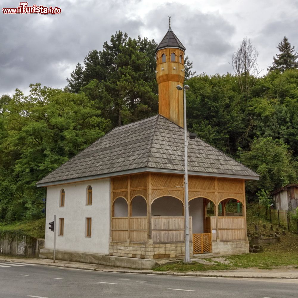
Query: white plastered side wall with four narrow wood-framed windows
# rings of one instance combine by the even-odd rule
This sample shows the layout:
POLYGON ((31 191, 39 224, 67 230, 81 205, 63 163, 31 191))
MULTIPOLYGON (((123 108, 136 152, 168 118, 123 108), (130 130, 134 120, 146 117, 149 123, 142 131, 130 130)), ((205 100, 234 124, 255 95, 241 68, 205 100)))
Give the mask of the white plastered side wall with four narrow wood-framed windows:
POLYGON ((47 187, 45 248, 53 249, 49 222, 56 215, 56 249, 108 254, 110 232, 110 179, 47 187), (92 187, 92 205, 86 205, 87 187, 92 187), (60 191, 65 191, 64 207, 60 191), (59 218, 64 218, 64 235, 58 236, 59 218), (86 237, 86 218, 92 218, 91 237, 86 237))

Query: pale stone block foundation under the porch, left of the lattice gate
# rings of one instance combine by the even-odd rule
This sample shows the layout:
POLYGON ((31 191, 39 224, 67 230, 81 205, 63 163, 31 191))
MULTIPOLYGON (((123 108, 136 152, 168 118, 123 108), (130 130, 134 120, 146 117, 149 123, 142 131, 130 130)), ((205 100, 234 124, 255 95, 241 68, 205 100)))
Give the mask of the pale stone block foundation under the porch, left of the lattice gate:
MULTIPOLYGON (((131 257, 140 259, 164 259, 184 257, 184 243, 126 243, 110 242, 110 256, 131 257)), ((193 256, 193 245, 190 243, 190 256, 193 256)))

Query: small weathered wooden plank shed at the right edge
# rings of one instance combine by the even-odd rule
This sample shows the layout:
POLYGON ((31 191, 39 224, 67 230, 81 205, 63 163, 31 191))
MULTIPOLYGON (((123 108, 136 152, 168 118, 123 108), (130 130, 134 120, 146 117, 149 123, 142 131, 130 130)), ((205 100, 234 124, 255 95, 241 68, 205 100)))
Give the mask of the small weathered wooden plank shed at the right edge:
POLYGON ((287 184, 273 193, 275 209, 293 211, 298 207, 298 184, 287 184))

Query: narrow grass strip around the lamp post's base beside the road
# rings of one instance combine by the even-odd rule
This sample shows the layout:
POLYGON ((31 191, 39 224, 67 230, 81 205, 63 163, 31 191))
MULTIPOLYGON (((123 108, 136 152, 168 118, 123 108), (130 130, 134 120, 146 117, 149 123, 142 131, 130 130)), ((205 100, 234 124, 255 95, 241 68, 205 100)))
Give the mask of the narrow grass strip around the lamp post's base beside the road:
MULTIPOLYGON (((210 259, 209 259, 210 261, 210 259)), ((213 262, 213 261, 212 261, 213 262)), ((176 271, 176 272, 190 272, 190 271, 206 271, 206 270, 225 270, 232 269, 231 265, 215 262, 215 265, 205 265, 198 262, 192 262, 191 264, 184 264, 182 261, 178 263, 170 263, 158 266, 153 271, 176 271)))

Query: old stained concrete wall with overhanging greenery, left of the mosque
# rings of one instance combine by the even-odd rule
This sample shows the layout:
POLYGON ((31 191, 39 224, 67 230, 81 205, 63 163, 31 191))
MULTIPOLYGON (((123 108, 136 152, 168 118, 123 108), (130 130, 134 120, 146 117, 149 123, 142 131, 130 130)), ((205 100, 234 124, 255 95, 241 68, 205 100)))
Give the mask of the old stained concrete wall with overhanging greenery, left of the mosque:
POLYGON ((44 239, 29 236, 16 236, 9 232, 0 236, 0 254, 38 257, 39 248, 43 246, 44 239))

